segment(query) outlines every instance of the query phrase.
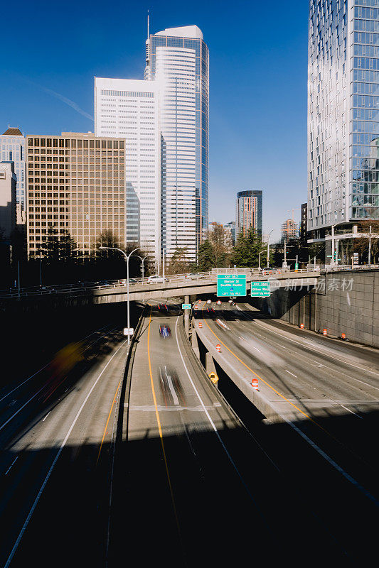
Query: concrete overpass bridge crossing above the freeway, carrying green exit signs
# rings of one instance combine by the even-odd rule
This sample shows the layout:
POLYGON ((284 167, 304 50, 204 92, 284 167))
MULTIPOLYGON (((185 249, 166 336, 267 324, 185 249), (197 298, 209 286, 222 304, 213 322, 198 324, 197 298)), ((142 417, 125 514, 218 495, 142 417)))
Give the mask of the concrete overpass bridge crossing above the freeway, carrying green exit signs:
MULTIPOLYGON (((219 269, 220 271, 220 269, 219 269)), ((241 274, 238 269, 225 269, 224 273, 241 274)), ((271 289, 294 288, 308 289, 315 286, 320 276, 319 270, 300 269, 297 271, 277 271, 265 273, 265 271, 246 271, 247 295, 250 295, 251 283, 256 281, 269 281, 271 289)), ((138 278, 129 283, 129 300, 146 301, 164 297, 191 296, 200 294, 215 294, 217 292, 217 273, 199 273, 198 275, 167 275, 166 282, 149 283, 148 278, 138 278)), ((112 280, 107 283, 78 283, 73 285, 56 285, 53 287, 26 288, 0 291, 0 306, 8 305, 9 302, 43 302, 56 300, 87 300, 87 303, 104 304, 127 301, 127 285, 125 280, 112 280)))

